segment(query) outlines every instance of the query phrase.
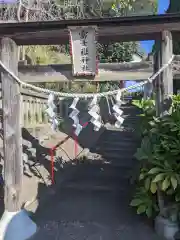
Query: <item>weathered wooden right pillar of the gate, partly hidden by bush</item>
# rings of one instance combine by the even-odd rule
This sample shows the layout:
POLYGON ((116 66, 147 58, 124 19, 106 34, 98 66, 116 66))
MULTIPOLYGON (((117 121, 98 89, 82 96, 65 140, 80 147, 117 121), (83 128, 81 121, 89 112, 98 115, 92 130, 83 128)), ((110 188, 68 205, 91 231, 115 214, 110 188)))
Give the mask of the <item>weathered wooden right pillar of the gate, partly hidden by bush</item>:
MULTIPOLYGON (((161 38, 156 41, 156 54, 154 56, 154 70, 155 72, 160 69, 161 66, 168 63, 173 55, 173 42, 172 34, 169 31, 163 31, 161 38)), ((155 80, 155 93, 156 93, 156 115, 162 116, 166 111, 169 111, 171 105, 171 98, 169 95, 173 94, 173 68, 170 64, 155 80)), ((164 211, 164 197, 162 192, 158 188, 157 194, 158 205, 160 208, 160 214, 155 219, 155 230, 159 236, 166 237, 165 223, 161 217, 164 211)))

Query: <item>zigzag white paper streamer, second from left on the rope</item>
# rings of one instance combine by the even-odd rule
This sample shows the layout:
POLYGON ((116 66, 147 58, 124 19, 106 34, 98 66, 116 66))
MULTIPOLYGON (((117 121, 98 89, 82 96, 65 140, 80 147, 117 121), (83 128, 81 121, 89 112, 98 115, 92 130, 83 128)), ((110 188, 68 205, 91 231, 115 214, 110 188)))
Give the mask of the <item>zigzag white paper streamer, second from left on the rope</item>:
POLYGON ((78 136, 80 134, 80 132, 82 131, 82 126, 79 123, 79 118, 78 118, 78 114, 79 114, 79 110, 76 108, 76 105, 79 101, 79 98, 74 98, 71 106, 69 108, 71 108, 73 111, 69 114, 69 117, 74 121, 73 123, 73 127, 75 128, 75 134, 76 136, 78 136))

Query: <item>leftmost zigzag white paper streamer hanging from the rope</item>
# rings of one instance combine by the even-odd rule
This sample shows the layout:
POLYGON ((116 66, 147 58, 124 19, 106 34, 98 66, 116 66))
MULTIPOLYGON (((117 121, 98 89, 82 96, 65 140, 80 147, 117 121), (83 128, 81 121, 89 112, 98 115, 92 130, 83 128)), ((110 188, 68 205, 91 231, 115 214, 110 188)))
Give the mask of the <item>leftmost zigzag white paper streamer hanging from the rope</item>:
POLYGON ((50 93, 48 97, 48 109, 46 109, 46 113, 50 117, 50 122, 51 122, 51 127, 53 130, 56 130, 58 127, 58 120, 56 118, 56 113, 55 113, 56 106, 54 104, 54 94, 50 93))

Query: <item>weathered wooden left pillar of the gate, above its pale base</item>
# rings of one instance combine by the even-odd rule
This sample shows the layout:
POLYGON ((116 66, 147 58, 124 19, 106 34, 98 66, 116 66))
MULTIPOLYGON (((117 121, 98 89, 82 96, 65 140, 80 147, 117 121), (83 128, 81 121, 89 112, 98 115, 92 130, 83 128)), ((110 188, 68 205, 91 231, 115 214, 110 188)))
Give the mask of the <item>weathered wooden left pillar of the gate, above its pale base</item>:
MULTIPOLYGON (((18 70, 18 49, 10 38, 1 39, 1 61, 15 74, 18 70)), ((20 86, 7 73, 1 72, 4 130, 5 209, 21 209, 23 162, 21 137, 20 86)))

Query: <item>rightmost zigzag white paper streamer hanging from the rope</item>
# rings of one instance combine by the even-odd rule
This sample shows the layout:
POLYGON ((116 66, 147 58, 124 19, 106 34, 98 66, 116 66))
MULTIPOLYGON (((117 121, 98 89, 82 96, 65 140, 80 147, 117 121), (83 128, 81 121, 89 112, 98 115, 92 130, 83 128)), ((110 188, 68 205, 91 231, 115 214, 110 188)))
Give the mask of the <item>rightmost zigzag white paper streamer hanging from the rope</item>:
POLYGON ((120 109, 121 104, 121 91, 119 91, 116 95, 116 104, 113 106, 114 116, 117 120, 115 122, 115 127, 117 128, 120 128, 122 123, 124 122, 124 118, 121 117, 121 115, 123 114, 123 111, 120 109))

